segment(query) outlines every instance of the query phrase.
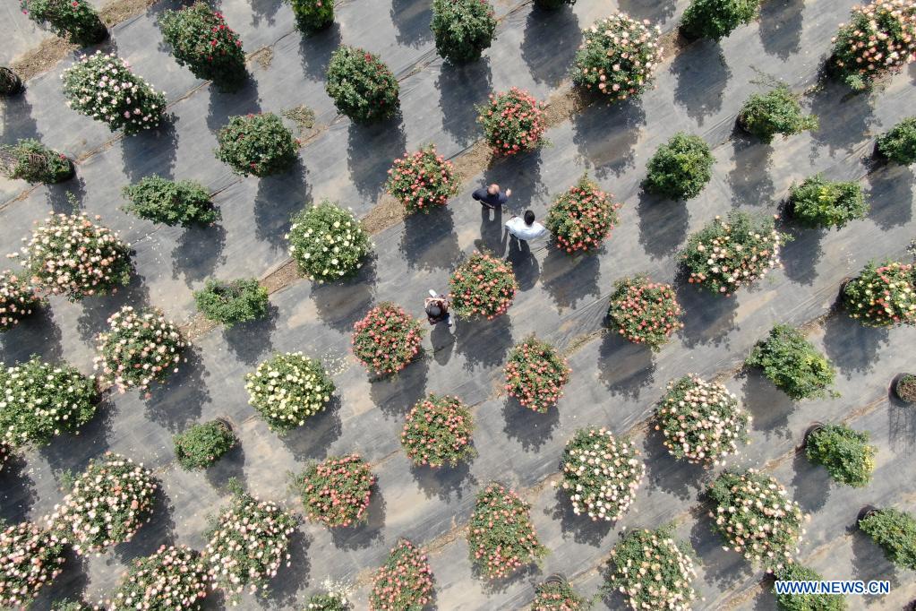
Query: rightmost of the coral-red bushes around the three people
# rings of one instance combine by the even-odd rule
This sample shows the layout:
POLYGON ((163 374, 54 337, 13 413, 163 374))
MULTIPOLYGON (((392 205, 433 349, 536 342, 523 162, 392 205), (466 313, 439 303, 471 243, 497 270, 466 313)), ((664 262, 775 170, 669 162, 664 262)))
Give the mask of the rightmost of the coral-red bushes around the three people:
POLYGON ((614 289, 607 316, 628 341, 659 350, 683 329, 683 311, 670 284, 637 276, 618 280, 614 289))

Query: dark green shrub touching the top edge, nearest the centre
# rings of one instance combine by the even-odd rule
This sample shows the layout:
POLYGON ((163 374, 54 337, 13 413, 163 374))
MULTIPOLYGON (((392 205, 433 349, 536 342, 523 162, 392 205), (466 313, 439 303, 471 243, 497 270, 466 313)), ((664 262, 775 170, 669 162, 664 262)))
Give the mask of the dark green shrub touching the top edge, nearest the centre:
POLYGON ((496 38, 496 16, 487 0, 432 0, 432 37, 443 59, 479 60, 496 38))

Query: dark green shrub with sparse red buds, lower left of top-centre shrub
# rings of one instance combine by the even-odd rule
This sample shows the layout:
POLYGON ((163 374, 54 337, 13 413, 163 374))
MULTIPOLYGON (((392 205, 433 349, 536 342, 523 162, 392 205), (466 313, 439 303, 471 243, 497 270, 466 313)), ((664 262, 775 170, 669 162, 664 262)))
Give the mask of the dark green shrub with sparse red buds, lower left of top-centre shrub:
POLYGON ((334 51, 324 88, 337 110, 356 123, 384 121, 398 112, 398 79, 365 49, 344 46, 334 51))

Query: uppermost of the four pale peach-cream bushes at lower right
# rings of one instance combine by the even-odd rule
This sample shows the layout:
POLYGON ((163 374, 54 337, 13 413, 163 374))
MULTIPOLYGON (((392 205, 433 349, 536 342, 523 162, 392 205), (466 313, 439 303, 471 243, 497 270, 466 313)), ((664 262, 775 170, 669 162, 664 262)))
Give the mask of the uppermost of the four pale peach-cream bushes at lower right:
POLYGON ((750 416, 719 382, 683 376, 668 383, 655 409, 655 430, 678 460, 692 464, 725 464, 738 446, 750 442, 750 416))

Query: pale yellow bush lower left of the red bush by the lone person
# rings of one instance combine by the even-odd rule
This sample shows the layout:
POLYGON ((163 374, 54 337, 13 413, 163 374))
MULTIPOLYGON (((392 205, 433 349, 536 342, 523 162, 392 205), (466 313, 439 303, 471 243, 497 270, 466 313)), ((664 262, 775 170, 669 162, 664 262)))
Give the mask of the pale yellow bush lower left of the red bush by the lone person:
POLYGON ((248 402, 273 431, 289 431, 322 411, 334 383, 318 359, 300 352, 274 355, 245 376, 248 402))

